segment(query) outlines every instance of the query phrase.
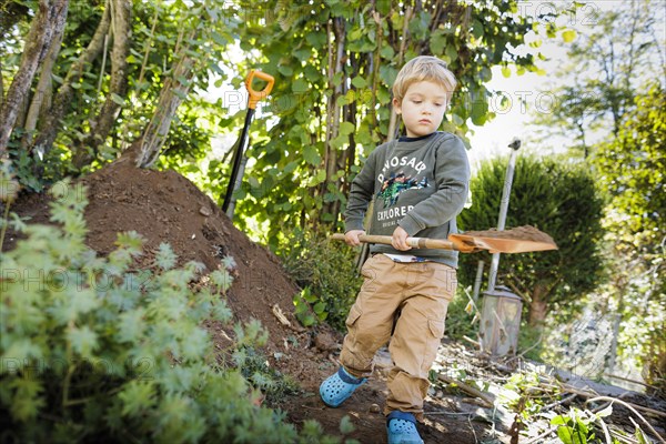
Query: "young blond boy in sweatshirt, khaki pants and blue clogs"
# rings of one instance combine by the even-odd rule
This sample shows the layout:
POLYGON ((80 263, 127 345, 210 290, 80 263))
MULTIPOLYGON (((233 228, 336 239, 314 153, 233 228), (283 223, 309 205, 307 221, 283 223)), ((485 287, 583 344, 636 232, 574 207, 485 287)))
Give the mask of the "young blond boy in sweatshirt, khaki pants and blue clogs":
POLYGON ((345 240, 359 245, 363 218, 375 195, 371 234, 392 235, 373 245, 365 278, 346 320, 340 362, 320 394, 337 407, 372 373, 375 352, 390 340, 393 367, 384 407, 390 444, 423 443, 427 375, 444 334, 446 307, 456 286, 457 252, 411 249, 407 236, 446 239, 467 198, 470 165, 463 142, 437 128, 455 77, 434 57, 407 62, 393 85, 393 105, 406 135, 376 148, 352 183, 345 211, 345 240))

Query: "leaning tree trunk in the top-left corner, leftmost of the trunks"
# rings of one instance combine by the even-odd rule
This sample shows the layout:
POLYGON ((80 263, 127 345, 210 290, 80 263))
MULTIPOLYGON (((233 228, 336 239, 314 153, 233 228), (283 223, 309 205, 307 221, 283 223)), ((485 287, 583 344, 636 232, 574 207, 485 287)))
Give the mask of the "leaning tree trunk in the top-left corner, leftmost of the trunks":
POLYGON ((7 158, 7 144, 13 131, 19 107, 24 101, 37 68, 49 51, 53 36, 61 32, 67 20, 68 0, 40 0, 26 39, 21 64, 14 77, 2 109, 0 109, 0 159, 7 158))

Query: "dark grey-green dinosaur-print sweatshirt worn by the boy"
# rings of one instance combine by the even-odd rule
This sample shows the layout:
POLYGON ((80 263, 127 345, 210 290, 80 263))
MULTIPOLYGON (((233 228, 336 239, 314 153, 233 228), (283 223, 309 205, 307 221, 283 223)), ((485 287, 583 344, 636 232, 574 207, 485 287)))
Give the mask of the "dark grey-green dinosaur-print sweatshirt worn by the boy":
MULTIPOLYGON (((467 200, 470 164, 463 142, 448 132, 401 138, 377 147, 352 182, 345 230, 364 230, 374 196, 369 234, 392 235, 402 226, 410 236, 447 239, 467 200)), ((457 266, 457 252, 438 249, 398 251, 374 244, 372 253, 413 254, 457 266)))

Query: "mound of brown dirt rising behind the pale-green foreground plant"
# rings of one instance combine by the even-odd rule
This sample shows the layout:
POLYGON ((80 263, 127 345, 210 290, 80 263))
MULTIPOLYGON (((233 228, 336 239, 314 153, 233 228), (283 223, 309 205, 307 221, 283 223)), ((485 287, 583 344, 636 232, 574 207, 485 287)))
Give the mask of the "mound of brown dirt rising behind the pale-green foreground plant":
MULTIPOLYGON (((292 299, 299 287, 274 254, 235 229, 192 182, 174 171, 137 169, 124 160, 82 182, 88 186, 84 216, 91 249, 107 255, 115 249, 119 232, 135 231, 144 239, 140 259, 144 265, 152 264, 163 242, 179 256, 179 265, 198 261, 209 272, 222 266, 224 256, 232 256, 236 266, 228 303, 235 320, 261 322, 269 332, 265 353, 280 371, 296 380, 316 377, 310 375, 316 373, 312 371, 316 366, 312 355, 321 352, 314 346, 319 332, 301 327, 294 316, 292 299)), ((49 199, 43 194, 23 196, 11 210, 29 223, 49 223, 49 199)), ((4 248, 10 250, 16 241, 17 235, 8 233, 4 248)), ((219 347, 229 344, 233 332, 223 332, 214 323, 208 326, 219 347)), ((330 353, 325 352, 323 360, 330 353)))

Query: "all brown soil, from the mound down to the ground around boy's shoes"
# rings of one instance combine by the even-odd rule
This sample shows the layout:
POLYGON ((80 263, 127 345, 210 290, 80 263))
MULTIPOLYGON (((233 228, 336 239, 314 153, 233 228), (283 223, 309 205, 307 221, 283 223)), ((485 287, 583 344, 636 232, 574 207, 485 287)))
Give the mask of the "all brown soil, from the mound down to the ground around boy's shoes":
MULTIPOLYGON (((253 243, 236 230, 225 214, 194 184, 173 171, 138 170, 119 161, 85 178, 89 205, 85 220, 87 243, 101 254, 114 249, 118 232, 137 231, 145 239, 145 264, 150 264, 160 243, 169 243, 181 264, 194 260, 209 271, 231 255, 236 262, 236 278, 228 301, 239 321, 255 319, 269 331, 265 354, 270 365, 299 382, 302 391, 280 405, 290 422, 301 425, 316 420, 324 431, 339 435, 340 421, 349 415, 355 426, 347 437, 360 443, 385 442, 385 420, 377 407, 385 400, 384 363, 341 408, 324 406, 319 384, 336 370, 340 333, 325 326, 303 329, 294 316, 292 297, 299 291, 276 256, 253 243), (289 322, 280 320, 280 314, 289 322)), ((21 199, 12 210, 31 218, 30 222, 48 222, 48 201, 41 195, 21 199)), ((11 249, 16 235, 9 233, 6 248, 11 249)), ((231 330, 208 325, 219 347, 229 344, 231 330)), ((474 420, 478 406, 471 400, 441 394, 426 402, 426 423, 420 425, 423 438, 434 443, 475 443, 492 428, 474 420), (463 412, 461 414, 461 412, 463 412), (465 414, 464 412, 470 412, 465 414)), ((495 437, 503 436, 502 424, 495 437)), ((507 442, 487 441, 487 442, 507 442)))

